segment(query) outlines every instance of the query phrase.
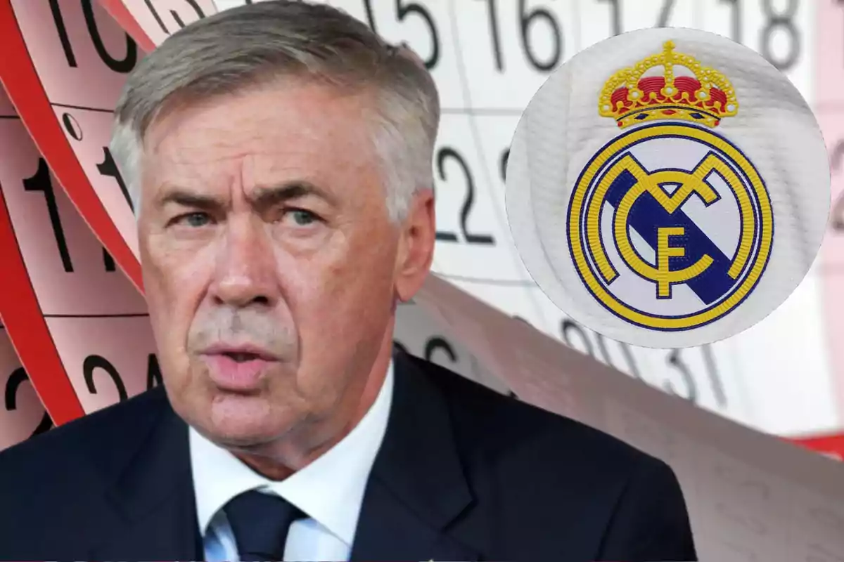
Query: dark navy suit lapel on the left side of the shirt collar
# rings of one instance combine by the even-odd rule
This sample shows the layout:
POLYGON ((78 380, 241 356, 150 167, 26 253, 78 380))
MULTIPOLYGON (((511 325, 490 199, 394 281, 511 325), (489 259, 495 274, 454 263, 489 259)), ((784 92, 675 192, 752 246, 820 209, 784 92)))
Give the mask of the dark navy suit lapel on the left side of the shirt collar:
POLYGON ((163 391, 153 392, 162 394, 161 413, 107 492, 115 530, 89 559, 203 559, 187 425, 163 391))

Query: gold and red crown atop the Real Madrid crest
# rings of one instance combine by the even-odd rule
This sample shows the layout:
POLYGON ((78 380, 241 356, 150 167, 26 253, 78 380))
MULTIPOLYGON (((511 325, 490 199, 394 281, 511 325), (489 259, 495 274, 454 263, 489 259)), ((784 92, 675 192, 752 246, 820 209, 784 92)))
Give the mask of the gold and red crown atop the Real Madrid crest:
POLYGON ((674 42, 666 41, 663 52, 615 72, 607 80, 598 100, 598 113, 614 118, 622 129, 657 119, 716 127, 723 117, 738 113, 738 100, 721 72, 701 67, 694 56, 674 52, 674 42), (655 67, 663 67, 662 76, 643 78, 655 67), (684 67, 692 76, 675 76, 674 67, 684 67))

